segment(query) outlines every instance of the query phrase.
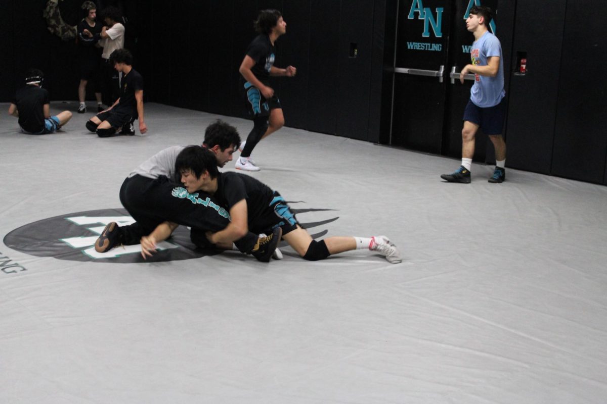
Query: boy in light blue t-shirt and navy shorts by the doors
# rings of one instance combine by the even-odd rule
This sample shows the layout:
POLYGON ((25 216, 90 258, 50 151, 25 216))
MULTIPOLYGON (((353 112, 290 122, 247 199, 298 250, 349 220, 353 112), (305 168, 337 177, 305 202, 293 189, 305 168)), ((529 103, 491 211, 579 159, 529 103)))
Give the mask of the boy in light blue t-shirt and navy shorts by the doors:
POLYGON ((506 179, 506 142, 501 135, 504 127, 506 101, 504 96, 504 61, 500 40, 489 32, 492 13, 489 7, 470 8, 466 28, 474 34, 470 50, 472 64, 466 65, 459 73, 459 81, 464 76, 475 75, 470 90, 470 101, 464 110, 464 128, 461 131, 461 167, 452 174, 443 174, 447 182, 470 184, 470 167, 474 156, 474 141, 478 128, 489 136, 495 147, 495 171, 489 182, 499 183, 506 179))

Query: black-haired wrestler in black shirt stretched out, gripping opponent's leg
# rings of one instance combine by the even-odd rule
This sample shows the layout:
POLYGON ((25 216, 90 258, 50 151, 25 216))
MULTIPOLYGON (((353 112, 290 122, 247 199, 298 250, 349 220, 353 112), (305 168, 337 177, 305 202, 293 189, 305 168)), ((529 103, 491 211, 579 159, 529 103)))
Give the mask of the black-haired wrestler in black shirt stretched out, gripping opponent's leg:
MULTIPOLYGON (((271 190, 259 180, 241 173, 220 173, 211 151, 200 146, 189 146, 177 156, 175 172, 181 173, 183 188, 176 188, 173 196, 196 199, 198 191, 212 194, 221 207, 229 212, 228 226, 216 233, 207 232, 209 242, 229 243, 251 231, 269 233, 282 229, 282 238, 304 259, 316 261, 331 254, 350 250, 377 251, 390 263, 402 261, 396 246, 385 236, 375 237, 328 237, 317 242, 302 228, 289 205, 277 191, 271 190)), ((141 243, 142 253, 154 247, 155 242, 171 234, 172 224, 164 222, 150 237, 152 243, 141 243)))

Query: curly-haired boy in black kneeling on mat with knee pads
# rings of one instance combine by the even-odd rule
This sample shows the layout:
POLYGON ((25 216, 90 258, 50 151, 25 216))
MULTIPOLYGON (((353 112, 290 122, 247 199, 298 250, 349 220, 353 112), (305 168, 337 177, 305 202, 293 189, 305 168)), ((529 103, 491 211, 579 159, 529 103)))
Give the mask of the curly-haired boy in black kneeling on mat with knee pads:
POLYGON ((132 123, 139 119, 141 134, 148 131, 143 120, 143 78, 132 67, 133 56, 126 49, 118 49, 110 56, 114 68, 123 73, 120 98, 107 110, 86 122, 86 128, 99 137, 109 137, 122 127, 121 134, 135 134, 132 123))

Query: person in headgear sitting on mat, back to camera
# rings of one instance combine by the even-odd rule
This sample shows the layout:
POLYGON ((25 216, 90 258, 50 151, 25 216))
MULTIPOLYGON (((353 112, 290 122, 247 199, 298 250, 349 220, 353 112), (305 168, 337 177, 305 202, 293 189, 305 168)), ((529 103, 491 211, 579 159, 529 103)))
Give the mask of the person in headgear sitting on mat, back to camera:
POLYGON ((19 88, 8 107, 8 114, 19 118, 21 131, 47 134, 59 130, 72 118, 70 111, 50 116, 49 91, 42 88, 44 73, 32 68, 25 73, 25 87, 19 88))

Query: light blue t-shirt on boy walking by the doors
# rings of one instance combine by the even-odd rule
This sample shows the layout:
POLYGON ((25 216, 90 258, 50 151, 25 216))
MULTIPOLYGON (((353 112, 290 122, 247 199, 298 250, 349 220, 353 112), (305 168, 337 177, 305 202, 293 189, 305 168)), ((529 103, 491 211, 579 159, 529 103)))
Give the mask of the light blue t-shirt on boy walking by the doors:
POLYGON ((473 65, 487 65, 487 58, 500 57, 500 68, 497 76, 475 75, 475 81, 470 90, 470 101, 477 107, 495 107, 506 96, 504 90, 504 58, 501 56, 501 44, 497 36, 489 31, 483 34, 478 41, 472 44, 470 57, 473 65))

